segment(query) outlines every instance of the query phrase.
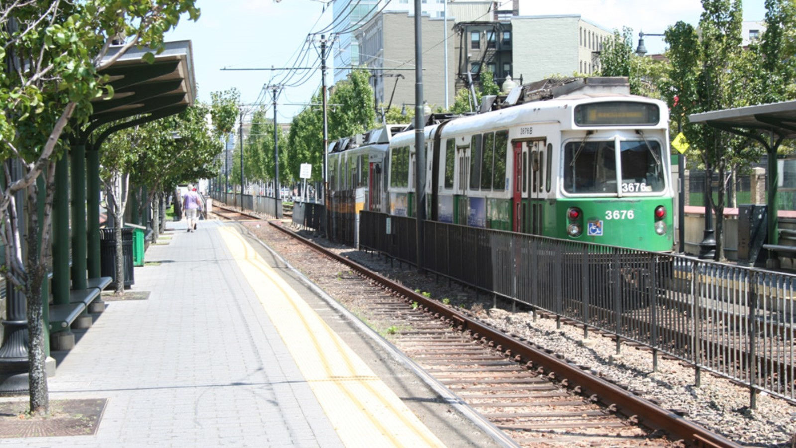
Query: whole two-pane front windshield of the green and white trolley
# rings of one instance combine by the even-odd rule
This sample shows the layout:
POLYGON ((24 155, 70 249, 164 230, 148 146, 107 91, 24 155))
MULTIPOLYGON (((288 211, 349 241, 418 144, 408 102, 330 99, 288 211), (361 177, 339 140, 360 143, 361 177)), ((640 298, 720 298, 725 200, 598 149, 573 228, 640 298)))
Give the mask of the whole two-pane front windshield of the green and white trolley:
POLYGON ((665 188, 656 140, 572 141, 564 146, 564 191, 574 194, 654 193, 665 188), (617 167, 619 163, 619 167, 617 167))

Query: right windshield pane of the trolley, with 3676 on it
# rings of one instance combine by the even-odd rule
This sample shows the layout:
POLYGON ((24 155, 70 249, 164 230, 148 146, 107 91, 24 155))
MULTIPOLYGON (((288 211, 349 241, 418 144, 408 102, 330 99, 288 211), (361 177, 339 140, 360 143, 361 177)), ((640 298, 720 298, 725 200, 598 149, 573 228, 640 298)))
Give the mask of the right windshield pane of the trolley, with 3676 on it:
POLYGON ((661 145, 655 140, 619 142, 622 193, 663 191, 664 167, 661 145))

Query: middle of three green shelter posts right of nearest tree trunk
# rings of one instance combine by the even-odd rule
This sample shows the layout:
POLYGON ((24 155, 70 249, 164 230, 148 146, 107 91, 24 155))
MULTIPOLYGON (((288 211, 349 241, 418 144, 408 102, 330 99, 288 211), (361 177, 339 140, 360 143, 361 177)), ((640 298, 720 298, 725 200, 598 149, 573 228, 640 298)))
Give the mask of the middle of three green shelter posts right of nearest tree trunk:
POLYGON ((72 162, 72 287, 88 288, 86 267, 86 147, 69 151, 72 162))

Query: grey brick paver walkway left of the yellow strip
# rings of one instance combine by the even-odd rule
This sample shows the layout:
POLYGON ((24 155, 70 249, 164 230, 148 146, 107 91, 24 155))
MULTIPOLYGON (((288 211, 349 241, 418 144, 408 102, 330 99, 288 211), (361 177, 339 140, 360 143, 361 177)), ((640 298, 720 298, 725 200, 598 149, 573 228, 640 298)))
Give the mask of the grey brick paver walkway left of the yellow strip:
MULTIPOLYGON (((340 446, 216 221, 169 224, 135 268, 148 300, 107 309, 49 379, 50 399, 107 398, 94 436, 25 446, 340 446)), ((58 355, 57 353, 55 354, 58 355)))

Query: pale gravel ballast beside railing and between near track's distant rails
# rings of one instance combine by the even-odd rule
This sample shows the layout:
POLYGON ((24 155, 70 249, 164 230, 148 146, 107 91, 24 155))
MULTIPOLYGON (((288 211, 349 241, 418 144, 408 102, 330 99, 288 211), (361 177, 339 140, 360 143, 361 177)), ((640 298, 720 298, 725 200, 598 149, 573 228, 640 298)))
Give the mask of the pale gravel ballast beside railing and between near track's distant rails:
MULTIPOLYGON (((319 287, 340 301, 341 305, 368 322, 369 293, 364 287, 357 290, 357 282, 346 281, 345 267, 322 259, 306 246, 291 242, 279 230, 271 229, 267 224, 250 224, 247 227, 307 277, 316 281, 319 287)), ((558 328, 554 319, 533 316, 527 311, 512 312, 494 308, 491 297, 476 294, 455 283, 449 286, 449 281, 445 278, 437 281, 435 276, 419 274, 413 267, 401 265, 398 261, 391 262, 377 254, 334 245, 322 238, 313 238, 306 232, 303 234, 385 277, 400 281, 412 289, 430 293, 432 298, 439 301, 447 299, 451 306, 470 312, 495 328, 523 336, 533 344, 550 349, 567 360, 586 365, 596 375, 611 379, 646 399, 654 400, 661 407, 674 410, 739 444, 794 446, 796 442, 796 407, 783 399, 761 393, 757 399, 757 409, 751 410, 749 390, 728 379, 703 371, 700 387, 695 387, 693 367, 683 365, 679 360, 659 356, 657 371, 653 371, 653 356, 649 351, 623 343, 620 354, 616 355, 615 341, 600 336, 597 332, 590 330, 590 337, 583 339, 582 327, 564 324, 558 328)), ((370 324, 373 326, 373 323, 370 324)))

